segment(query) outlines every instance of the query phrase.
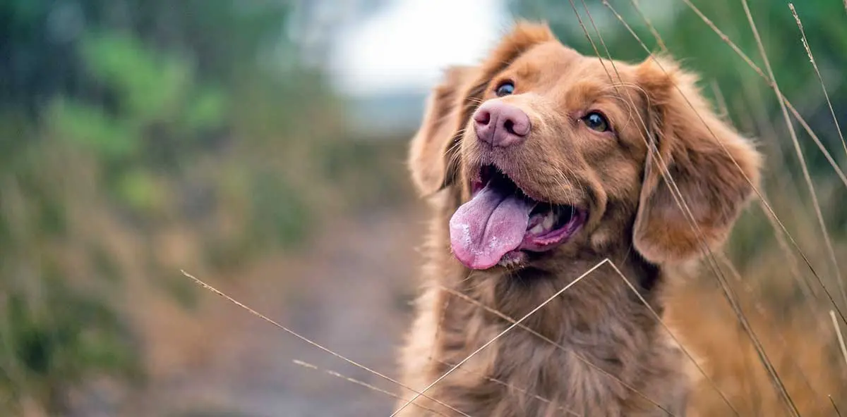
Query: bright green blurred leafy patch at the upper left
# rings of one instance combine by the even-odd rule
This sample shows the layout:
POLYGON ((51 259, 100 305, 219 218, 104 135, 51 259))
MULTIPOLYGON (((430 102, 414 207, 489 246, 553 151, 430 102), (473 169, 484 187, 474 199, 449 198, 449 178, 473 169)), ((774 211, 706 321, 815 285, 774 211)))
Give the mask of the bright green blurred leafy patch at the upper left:
POLYGON ((151 171, 178 169, 224 125, 224 93, 198 81, 185 59, 131 36, 87 36, 81 55, 115 97, 113 108, 58 97, 49 112, 51 129, 97 156, 120 203, 136 214, 162 210, 151 171))

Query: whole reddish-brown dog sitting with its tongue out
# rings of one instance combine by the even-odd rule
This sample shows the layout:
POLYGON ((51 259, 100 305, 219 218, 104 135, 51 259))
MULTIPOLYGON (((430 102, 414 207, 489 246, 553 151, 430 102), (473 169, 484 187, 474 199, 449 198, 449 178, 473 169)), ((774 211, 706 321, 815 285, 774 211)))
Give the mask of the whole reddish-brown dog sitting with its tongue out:
MULTIPOLYGON (((669 267, 722 244, 760 160, 671 60, 601 61, 518 24, 446 71, 412 140, 435 214, 403 382, 424 390, 605 259, 661 314, 669 267)), ((605 265, 399 414, 683 415, 687 361, 605 265)))

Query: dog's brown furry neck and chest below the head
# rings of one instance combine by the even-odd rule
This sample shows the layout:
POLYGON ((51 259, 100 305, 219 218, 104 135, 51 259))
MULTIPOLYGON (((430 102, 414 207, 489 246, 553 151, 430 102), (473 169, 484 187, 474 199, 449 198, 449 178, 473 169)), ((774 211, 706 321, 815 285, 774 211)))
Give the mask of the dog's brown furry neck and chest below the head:
MULTIPOLYGON (((661 314, 662 272, 628 244, 607 247, 603 253, 579 250, 546 271, 472 272, 452 258, 446 244, 450 213, 440 210, 432 224, 429 255, 440 270, 429 271, 428 294, 419 306, 430 316, 418 320, 431 321, 434 332, 426 336, 431 359, 423 369, 407 368, 407 374, 423 373, 407 375, 407 381, 435 381, 605 259, 661 314)), ((428 395, 469 415, 561 415, 562 408, 579 415, 665 414, 644 397, 675 415, 684 414, 678 405, 685 392, 678 351, 623 277, 612 266, 598 267, 452 371, 428 395), (678 392, 650 392, 659 385, 654 378, 667 381, 674 376, 680 381, 678 392)), ((414 350, 407 348, 407 363, 414 350)), ((442 414, 456 415, 422 401, 442 414)), ((420 415, 420 410, 410 415, 420 415)))

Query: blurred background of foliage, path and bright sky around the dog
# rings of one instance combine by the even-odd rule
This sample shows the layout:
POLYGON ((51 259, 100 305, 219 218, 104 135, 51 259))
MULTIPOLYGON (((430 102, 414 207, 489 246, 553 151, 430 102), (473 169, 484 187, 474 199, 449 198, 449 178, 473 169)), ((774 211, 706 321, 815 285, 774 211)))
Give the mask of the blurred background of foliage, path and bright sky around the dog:
MULTIPOLYGON (((728 279, 798 407, 833 415, 831 396, 847 409, 820 284, 847 307, 833 263, 847 259, 847 180, 833 168, 847 147, 788 3, 749 0, 779 88, 820 141, 794 123, 820 217, 777 95, 703 19, 766 71, 743 4, 609 3, 0 0, 0 414, 390 414, 390 395, 326 370, 397 387, 180 269, 396 376, 426 214, 407 141, 440 71, 477 62, 518 17, 585 54, 584 28, 604 56, 598 31, 612 58, 667 50, 761 138, 762 194, 809 265, 756 200, 728 279)), ((844 126, 847 10, 796 7, 844 126)), ((687 284, 671 308, 686 307, 687 346, 741 415, 783 414, 714 277, 687 284)), ((695 403, 729 412, 708 387, 695 403)))

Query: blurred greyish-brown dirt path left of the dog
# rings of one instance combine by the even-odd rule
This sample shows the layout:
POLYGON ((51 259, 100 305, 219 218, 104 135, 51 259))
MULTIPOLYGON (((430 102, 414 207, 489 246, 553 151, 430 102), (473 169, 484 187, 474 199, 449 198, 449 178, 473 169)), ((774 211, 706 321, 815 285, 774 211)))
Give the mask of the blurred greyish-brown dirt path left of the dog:
MULTIPOLYGON (((396 375, 396 345, 408 321, 418 265, 420 216, 402 208, 339 219, 311 249, 263 262, 220 283, 237 299, 339 354, 396 375)), ((206 298, 212 329, 203 359, 152 392, 156 414, 209 416, 389 415, 395 400, 323 370, 398 392, 390 382, 302 342, 223 299, 206 298), (296 365, 294 360, 321 370, 296 365), (224 414, 221 414, 224 412, 224 414)), ((197 349, 196 349, 197 350, 197 349)))

